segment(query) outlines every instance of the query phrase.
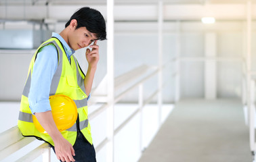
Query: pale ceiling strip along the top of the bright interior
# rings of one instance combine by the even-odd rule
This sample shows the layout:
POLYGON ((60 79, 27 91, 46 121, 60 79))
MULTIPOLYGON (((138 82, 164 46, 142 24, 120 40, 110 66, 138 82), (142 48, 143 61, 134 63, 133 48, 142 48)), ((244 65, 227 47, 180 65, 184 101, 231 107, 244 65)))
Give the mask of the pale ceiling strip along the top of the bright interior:
MULTIPOLYGON (((113 0, 115 20, 157 20, 158 2, 163 1, 165 20, 246 20, 247 1, 256 0, 113 0)), ((93 6, 106 16, 107 0, 0 0, 0 20, 66 20, 77 6, 93 6)), ((250 5, 247 5, 250 6, 250 5)), ((251 9, 253 18, 256 11, 251 9)), ((1 22, 1 21, 0 21, 1 22)))

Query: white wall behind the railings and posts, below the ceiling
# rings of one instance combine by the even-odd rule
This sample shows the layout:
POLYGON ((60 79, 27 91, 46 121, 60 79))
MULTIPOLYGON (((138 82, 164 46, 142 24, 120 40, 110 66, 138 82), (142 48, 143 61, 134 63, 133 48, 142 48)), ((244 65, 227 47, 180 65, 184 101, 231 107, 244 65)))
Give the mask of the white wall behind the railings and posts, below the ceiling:
MULTIPOLYGON (((218 57, 242 56, 242 23, 243 22, 217 22, 205 26, 200 22, 181 22, 181 53, 182 57, 203 57, 205 46, 205 32, 211 31, 217 34, 218 57)), ((176 23, 165 22, 163 40, 164 63, 175 57, 176 49, 176 23)), ((64 24, 57 24, 54 29, 60 32, 64 24)), ((9 28, 11 28, 9 26, 9 28)), ((12 27, 14 28, 14 27, 12 27)), ((24 28, 24 26, 23 26, 24 28)), ((114 69, 115 76, 132 70, 141 64, 157 65, 157 23, 156 22, 119 22, 115 26, 114 42, 114 69)), ((253 42, 256 36, 253 35, 253 42)), ((106 41, 100 41, 100 62, 95 76, 97 86, 106 74, 106 41)), ((256 49, 253 46, 253 53, 256 49)), ((85 71, 87 63, 83 53, 85 49, 77 51, 77 58, 85 71)), ((3 54, 0 51, 0 101, 20 101, 22 88, 26 80, 28 64, 31 53, 3 54)), ((255 55, 253 55, 255 60, 255 55)), ((256 66, 253 64, 253 67, 256 66)), ((181 62, 181 98, 204 96, 204 63, 202 61, 181 62)), ((240 97, 241 69, 239 62, 217 63, 217 97, 240 97)), ((170 64, 164 71, 164 82, 167 82, 163 90, 164 101, 172 102, 174 99, 174 80, 171 75, 174 65, 170 64)), ((148 80, 150 88, 146 88, 146 94, 150 95, 156 89, 157 79, 148 80)), ((127 95, 123 101, 133 102, 137 100, 137 93, 127 95)), ((155 100, 156 101, 156 100, 155 100)))

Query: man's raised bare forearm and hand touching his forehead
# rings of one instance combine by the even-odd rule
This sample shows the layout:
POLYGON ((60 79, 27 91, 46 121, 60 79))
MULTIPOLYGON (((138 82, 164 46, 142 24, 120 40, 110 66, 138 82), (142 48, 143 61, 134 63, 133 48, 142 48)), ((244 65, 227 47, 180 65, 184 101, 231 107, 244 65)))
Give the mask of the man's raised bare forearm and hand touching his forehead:
POLYGON ((91 93, 91 87, 93 84, 94 74, 97 69, 97 64, 100 59, 99 56, 99 46, 97 45, 97 41, 94 41, 93 45, 90 46, 93 48, 91 51, 89 49, 86 50, 85 57, 88 62, 88 70, 85 76, 84 84, 85 84, 85 92, 87 95, 91 93))

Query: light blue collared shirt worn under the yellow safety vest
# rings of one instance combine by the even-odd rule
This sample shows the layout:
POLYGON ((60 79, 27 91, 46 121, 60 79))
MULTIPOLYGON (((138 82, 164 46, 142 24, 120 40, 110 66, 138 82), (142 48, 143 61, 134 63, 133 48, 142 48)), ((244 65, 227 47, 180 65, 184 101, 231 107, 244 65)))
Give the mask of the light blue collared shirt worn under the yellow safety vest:
MULTIPOLYGON (((52 36, 58 38, 70 61, 70 57, 74 54, 74 50, 71 49, 64 38, 55 32, 52 36)), ((49 104, 49 91, 51 87, 51 80, 58 67, 58 51, 54 45, 47 45, 39 50, 37 53, 37 59, 33 66, 33 74, 31 76, 30 91, 28 94, 28 103, 30 110, 33 114, 41 113, 51 110, 49 104)), ((90 94, 87 98, 89 99, 90 94)))

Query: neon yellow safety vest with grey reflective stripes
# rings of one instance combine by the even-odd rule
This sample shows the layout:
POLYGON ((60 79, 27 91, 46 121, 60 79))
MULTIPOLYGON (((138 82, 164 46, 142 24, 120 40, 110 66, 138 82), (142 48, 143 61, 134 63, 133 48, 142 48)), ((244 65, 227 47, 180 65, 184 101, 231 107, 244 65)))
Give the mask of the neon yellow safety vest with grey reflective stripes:
POLYGON ((50 44, 54 45, 58 51, 58 68, 54 74, 54 78, 51 81, 49 96, 54 94, 64 94, 70 97, 74 103, 76 103, 77 111, 79 113, 79 123, 76 122, 71 128, 61 132, 61 134, 64 136, 64 138, 66 138, 66 140, 74 145, 77 138, 77 126, 79 126, 85 138, 92 144, 91 126, 87 118, 87 95, 85 94, 85 86, 83 82, 85 79, 85 74, 83 74, 77 59, 73 55, 70 57, 70 62, 68 61, 64 47, 58 38, 54 37, 50 38, 48 41, 45 41, 45 43, 43 43, 37 49, 32 60, 30 61, 28 77, 26 79, 26 84, 22 92, 22 99, 20 103, 18 128, 20 128, 23 136, 35 136, 36 138, 45 140, 45 142, 48 142, 54 146, 54 142, 48 134, 40 133, 35 128, 28 103, 31 74, 33 73, 33 65, 35 63, 37 53, 39 49, 50 44))

